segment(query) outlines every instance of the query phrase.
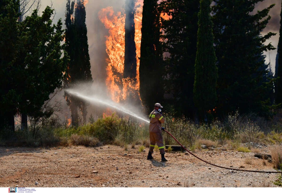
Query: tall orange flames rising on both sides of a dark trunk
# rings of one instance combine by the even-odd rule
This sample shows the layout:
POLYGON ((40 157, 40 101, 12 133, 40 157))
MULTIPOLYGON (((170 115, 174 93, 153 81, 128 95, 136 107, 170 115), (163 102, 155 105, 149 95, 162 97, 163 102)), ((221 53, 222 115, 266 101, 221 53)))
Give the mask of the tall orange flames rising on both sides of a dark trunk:
MULTIPOLYGON (((141 45, 141 27, 143 1, 138 0, 135 4, 135 44, 136 44, 136 81, 124 78, 124 52, 125 52, 125 14, 122 12, 114 13, 113 7, 103 8, 99 13, 100 21, 109 29, 106 37, 106 52, 109 56, 106 67, 106 85, 113 101, 120 102, 127 98, 129 91, 139 94, 139 58, 141 45)), ((137 96, 134 96, 137 97, 137 96)))

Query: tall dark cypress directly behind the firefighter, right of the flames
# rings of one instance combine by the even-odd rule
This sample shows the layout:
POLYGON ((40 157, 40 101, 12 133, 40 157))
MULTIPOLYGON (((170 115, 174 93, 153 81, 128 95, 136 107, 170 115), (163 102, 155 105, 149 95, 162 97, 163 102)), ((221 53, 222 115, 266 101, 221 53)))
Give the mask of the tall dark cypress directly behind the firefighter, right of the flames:
POLYGON ((156 103, 154 100, 161 103, 164 96, 160 14, 157 8, 157 0, 144 0, 139 76, 140 97, 147 113, 156 103))

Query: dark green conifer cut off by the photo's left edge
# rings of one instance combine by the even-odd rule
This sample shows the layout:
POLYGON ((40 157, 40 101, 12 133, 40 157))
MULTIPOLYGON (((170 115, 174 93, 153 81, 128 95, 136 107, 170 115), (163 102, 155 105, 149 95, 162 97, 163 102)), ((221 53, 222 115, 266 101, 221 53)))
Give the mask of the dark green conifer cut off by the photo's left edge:
POLYGON ((19 2, 16 0, 0 1, 0 130, 5 125, 15 130, 15 104, 20 101, 14 88, 14 59, 19 49, 18 8, 19 2))

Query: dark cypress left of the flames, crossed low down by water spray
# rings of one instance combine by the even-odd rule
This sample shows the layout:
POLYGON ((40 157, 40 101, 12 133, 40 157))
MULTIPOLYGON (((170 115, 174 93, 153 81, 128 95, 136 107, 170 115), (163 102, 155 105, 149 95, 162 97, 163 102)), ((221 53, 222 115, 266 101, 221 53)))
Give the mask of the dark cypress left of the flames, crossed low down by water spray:
MULTIPOLYGON (((87 1, 78 0, 66 5, 66 31, 65 31, 65 49, 70 56, 70 62, 67 65, 66 78, 64 80, 65 88, 74 88, 80 83, 92 84, 90 71, 90 57, 88 53, 87 28, 85 24, 86 12, 85 4, 87 1), (75 15, 73 17, 75 9, 75 15)), ((67 104, 70 107, 72 125, 78 125, 78 108, 82 112, 83 122, 86 122, 87 102, 65 92, 67 104)))

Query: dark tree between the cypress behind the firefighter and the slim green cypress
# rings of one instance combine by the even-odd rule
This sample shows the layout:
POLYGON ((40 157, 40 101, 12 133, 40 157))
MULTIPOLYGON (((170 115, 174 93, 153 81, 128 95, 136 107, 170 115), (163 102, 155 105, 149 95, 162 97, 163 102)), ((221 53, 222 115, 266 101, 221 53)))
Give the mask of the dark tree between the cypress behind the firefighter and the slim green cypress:
MULTIPOLYGON (((193 85, 197 51, 199 0, 167 0, 160 3, 160 11, 171 17, 161 20, 165 57, 164 90, 167 105, 175 115, 193 118, 193 85), (169 56, 168 56, 169 55, 169 56)), ((194 117, 195 118, 195 117, 194 117)))

